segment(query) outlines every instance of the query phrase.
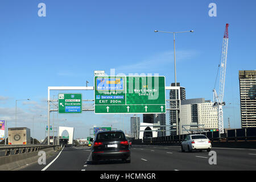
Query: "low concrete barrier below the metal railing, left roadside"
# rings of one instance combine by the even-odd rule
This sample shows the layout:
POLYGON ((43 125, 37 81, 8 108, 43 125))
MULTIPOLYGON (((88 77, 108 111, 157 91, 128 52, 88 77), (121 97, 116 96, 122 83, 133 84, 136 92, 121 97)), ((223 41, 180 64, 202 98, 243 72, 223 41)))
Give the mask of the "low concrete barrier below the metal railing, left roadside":
MULTIPOLYGON (((46 152, 46 158, 51 155, 56 154, 56 148, 45 148, 42 151, 46 152)), ((57 148, 59 149, 59 147, 57 148)), ((26 166, 26 164, 30 164, 32 162, 36 162, 39 159, 38 155, 39 151, 28 152, 24 154, 16 154, 16 155, 9 155, 9 156, 2 156, 0 157, 0 170, 1 171, 10 171, 15 168, 19 168, 22 166, 26 166)))

